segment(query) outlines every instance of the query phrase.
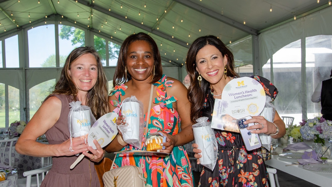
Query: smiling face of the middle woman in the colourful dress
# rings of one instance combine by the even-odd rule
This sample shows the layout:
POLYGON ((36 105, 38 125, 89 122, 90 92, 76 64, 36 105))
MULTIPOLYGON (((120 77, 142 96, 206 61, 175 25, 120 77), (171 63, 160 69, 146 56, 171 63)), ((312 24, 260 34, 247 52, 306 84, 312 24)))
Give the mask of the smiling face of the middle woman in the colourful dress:
POLYGON ((153 64, 153 52, 148 42, 138 40, 129 45, 126 66, 133 80, 144 81, 152 78, 153 64))

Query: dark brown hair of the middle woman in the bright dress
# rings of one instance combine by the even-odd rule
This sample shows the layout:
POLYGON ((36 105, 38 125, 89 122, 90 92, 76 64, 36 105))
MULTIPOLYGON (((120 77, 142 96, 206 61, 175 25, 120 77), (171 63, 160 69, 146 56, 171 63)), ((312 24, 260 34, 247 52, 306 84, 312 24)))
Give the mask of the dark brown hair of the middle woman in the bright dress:
POLYGON ((127 51, 129 45, 135 41, 146 41, 147 43, 150 44, 153 53, 154 68, 155 68, 154 70, 155 73, 152 83, 157 82, 163 75, 163 69, 161 66, 161 57, 156 42, 148 34, 140 32, 128 36, 121 45, 118 64, 117 68, 115 69, 114 78, 113 78, 113 86, 121 85, 124 84, 126 81, 131 80, 131 75, 128 72, 127 72, 127 80, 125 80, 125 68, 127 62, 126 58, 127 58, 127 51))

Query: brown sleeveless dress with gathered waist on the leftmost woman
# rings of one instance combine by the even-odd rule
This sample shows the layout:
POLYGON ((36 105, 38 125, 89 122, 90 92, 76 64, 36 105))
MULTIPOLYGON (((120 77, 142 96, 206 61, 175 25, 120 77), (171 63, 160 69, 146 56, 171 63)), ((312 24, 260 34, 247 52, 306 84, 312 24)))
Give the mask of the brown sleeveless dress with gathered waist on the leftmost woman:
MULTIPOLYGON (((73 101, 70 95, 54 94, 61 100, 62 108, 59 120, 46 133, 49 144, 60 144, 70 138, 68 129, 69 103, 73 101)), ((68 147, 69 149, 69 147, 68 147)), ((42 151, 42 150, 41 150, 42 151)), ((100 187, 94 162, 84 157, 74 169, 70 165, 77 156, 53 156, 52 169, 47 173, 41 187, 100 187)))

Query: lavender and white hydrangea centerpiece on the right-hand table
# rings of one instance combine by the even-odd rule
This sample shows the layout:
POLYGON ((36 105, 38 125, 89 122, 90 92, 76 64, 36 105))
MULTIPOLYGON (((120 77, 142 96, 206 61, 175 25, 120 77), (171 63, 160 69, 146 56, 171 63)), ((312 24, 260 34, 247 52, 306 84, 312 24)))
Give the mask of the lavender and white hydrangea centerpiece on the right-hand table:
POLYGON ((331 120, 325 120, 323 117, 315 117, 313 119, 302 120, 300 126, 303 139, 313 139, 315 143, 321 143, 324 146, 324 139, 332 138, 331 120))

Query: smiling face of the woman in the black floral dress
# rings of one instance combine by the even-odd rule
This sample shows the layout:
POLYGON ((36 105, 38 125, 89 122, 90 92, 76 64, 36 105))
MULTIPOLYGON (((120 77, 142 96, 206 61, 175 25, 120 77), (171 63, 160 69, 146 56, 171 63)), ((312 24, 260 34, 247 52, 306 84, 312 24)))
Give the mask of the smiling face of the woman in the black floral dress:
POLYGON ((196 70, 210 85, 215 85, 220 80, 225 80, 224 70, 227 57, 212 45, 204 46, 196 55, 196 70))

